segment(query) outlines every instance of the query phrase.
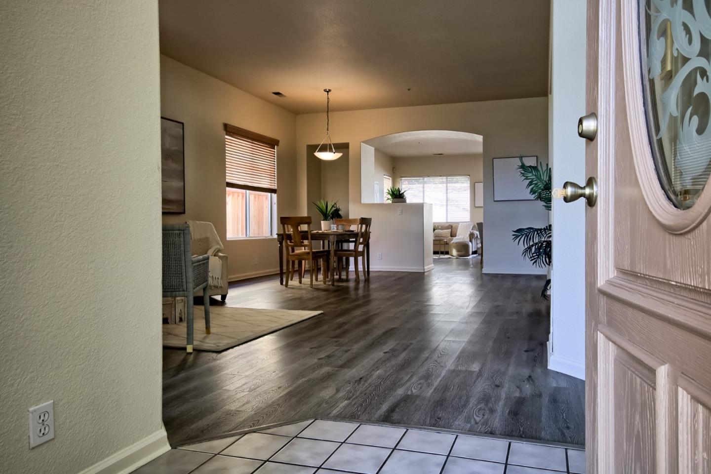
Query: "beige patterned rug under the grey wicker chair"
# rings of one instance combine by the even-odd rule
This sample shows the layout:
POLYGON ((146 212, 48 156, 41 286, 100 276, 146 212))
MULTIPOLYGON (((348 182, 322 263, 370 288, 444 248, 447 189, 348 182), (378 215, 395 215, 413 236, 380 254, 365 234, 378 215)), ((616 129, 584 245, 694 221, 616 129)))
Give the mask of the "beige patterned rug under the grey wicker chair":
MULTIPOLYGON (((225 350, 321 313, 323 311, 210 306, 212 334, 205 334, 205 312, 202 306, 196 305, 193 313, 193 349, 225 350)), ((185 348, 186 323, 164 324, 163 345, 166 348, 185 348)))

